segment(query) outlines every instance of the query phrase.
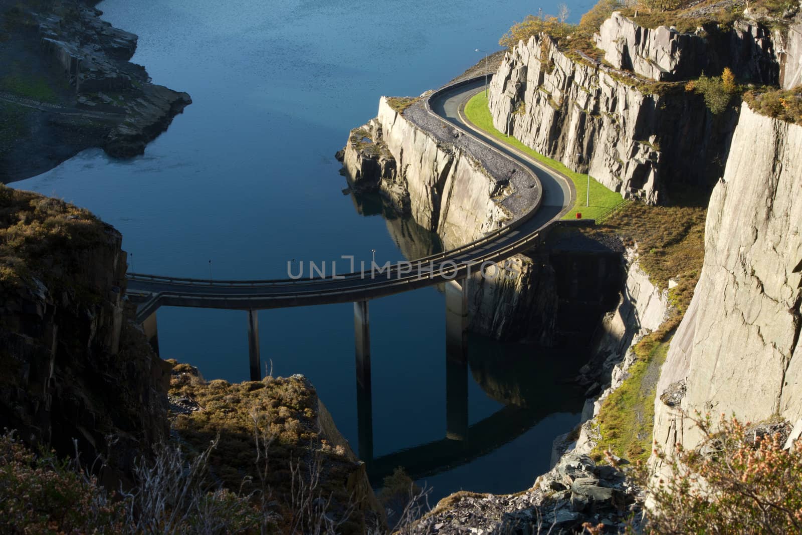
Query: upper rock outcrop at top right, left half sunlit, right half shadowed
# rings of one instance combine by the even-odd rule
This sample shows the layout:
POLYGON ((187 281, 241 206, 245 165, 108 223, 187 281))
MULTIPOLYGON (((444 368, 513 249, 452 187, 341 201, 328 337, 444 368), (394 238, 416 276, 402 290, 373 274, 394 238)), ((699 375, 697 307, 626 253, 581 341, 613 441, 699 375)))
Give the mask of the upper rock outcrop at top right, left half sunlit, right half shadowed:
POLYGON ((768 30, 748 21, 736 21, 727 30, 707 25, 683 34, 673 26, 644 28, 614 12, 595 41, 613 67, 653 80, 695 79, 730 67, 738 79, 775 83, 779 71, 768 30))

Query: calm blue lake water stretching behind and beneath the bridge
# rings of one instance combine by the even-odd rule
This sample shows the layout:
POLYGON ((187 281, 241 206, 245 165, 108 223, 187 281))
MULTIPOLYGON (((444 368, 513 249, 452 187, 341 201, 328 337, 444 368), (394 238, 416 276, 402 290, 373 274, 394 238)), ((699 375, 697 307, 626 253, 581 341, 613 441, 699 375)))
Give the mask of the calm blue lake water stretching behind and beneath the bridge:
MULTIPOLYGON (((574 19, 589 8, 569 6, 574 19)), ((480 59, 474 49, 496 51, 512 21, 537 12, 525 0, 106 0, 99 9, 139 34, 134 61, 154 82, 188 91, 194 103, 144 156, 115 161, 88 150, 14 186, 63 197, 115 225, 133 270, 199 278, 277 278, 291 258, 369 260, 376 249, 383 262, 437 249, 414 223, 385 219, 375 200, 343 195, 334 152, 350 128, 375 116, 379 95, 438 87, 480 59)), ((267 310, 260 324, 273 374, 308 376, 356 444, 352 307, 267 310)), ((192 363, 208 379, 247 378, 245 312, 164 308, 159 335, 164 358, 192 363)), ((442 294, 429 288, 371 302, 371 342, 375 456, 442 439, 442 294)), ((523 432, 516 440, 428 477, 435 498, 528 487, 548 468, 553 436, 577 422, 580 396, 555 383, 581 365, 581 351, 474 339, 471 376, 488 355, 503 366, 484 366, 482 377, 537 386, 528 395, 538 414, 528 430, 509 434, 523 432)), ((505 403, 469 380, 471 424, 505 403)))

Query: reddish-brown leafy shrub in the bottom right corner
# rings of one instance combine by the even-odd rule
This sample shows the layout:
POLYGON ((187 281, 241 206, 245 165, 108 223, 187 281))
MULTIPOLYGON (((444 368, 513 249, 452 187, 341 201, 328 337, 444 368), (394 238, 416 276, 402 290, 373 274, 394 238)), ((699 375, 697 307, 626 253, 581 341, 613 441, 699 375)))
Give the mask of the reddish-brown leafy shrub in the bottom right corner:
MULTIPOLYGON (((779 432, 735 417, 717 428, 709 415, 691 419, 703 436, 697 448, 655 450, 669 473, 650 485, 646 533, 802 532, 802 440, 784 450, 779 432)), ((650 484, 646 468, 638 472, 650 484)))

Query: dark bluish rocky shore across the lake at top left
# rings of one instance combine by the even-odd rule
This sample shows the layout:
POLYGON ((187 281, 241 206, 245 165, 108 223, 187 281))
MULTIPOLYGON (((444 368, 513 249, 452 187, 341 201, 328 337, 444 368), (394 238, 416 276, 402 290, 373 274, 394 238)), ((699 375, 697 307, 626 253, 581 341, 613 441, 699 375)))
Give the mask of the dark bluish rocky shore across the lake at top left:
POLYGON ((102 21, 101 11, 80 0, 47 2, 35 12, 22 2, 2 11, 0 24, 10 34, 0 48, 4 72, 23 80, 36 73, 34 85, 45 87, 31 93, 22 83, 0 92, 3 183, 45 172, 86 148, 120 158, 142 154, 192 103, 186 93, 151 83, 144 67, 129 61, 136 35, 102 21))

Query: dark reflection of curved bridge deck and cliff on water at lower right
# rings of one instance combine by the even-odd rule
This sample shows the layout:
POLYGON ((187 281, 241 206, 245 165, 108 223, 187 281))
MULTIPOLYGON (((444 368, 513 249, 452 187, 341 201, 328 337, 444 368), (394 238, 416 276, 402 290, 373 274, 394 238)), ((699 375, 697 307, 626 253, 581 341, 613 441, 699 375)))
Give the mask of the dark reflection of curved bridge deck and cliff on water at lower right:
MULTIPOLYGON (((440 409, 446 413, 444 438, 363 459, 372 484, 381 484, 399 466, 412 479, 419 480, 468 464, 510 443, 555 413, 577 415, 578 423, 584 401, 581 390, 571 379, 587 359, 581 348, 545 349, 469 336, 467 350, 467 363, 444 357, 447 397, 446 407, 440 409), (504 404, 499 411, 470 426, 468 371, 488 396, 504 404)), ((553 438, 541 437, 549 445, 553 438)), ((542 461, 548 463, 548 459, 542 461)))

